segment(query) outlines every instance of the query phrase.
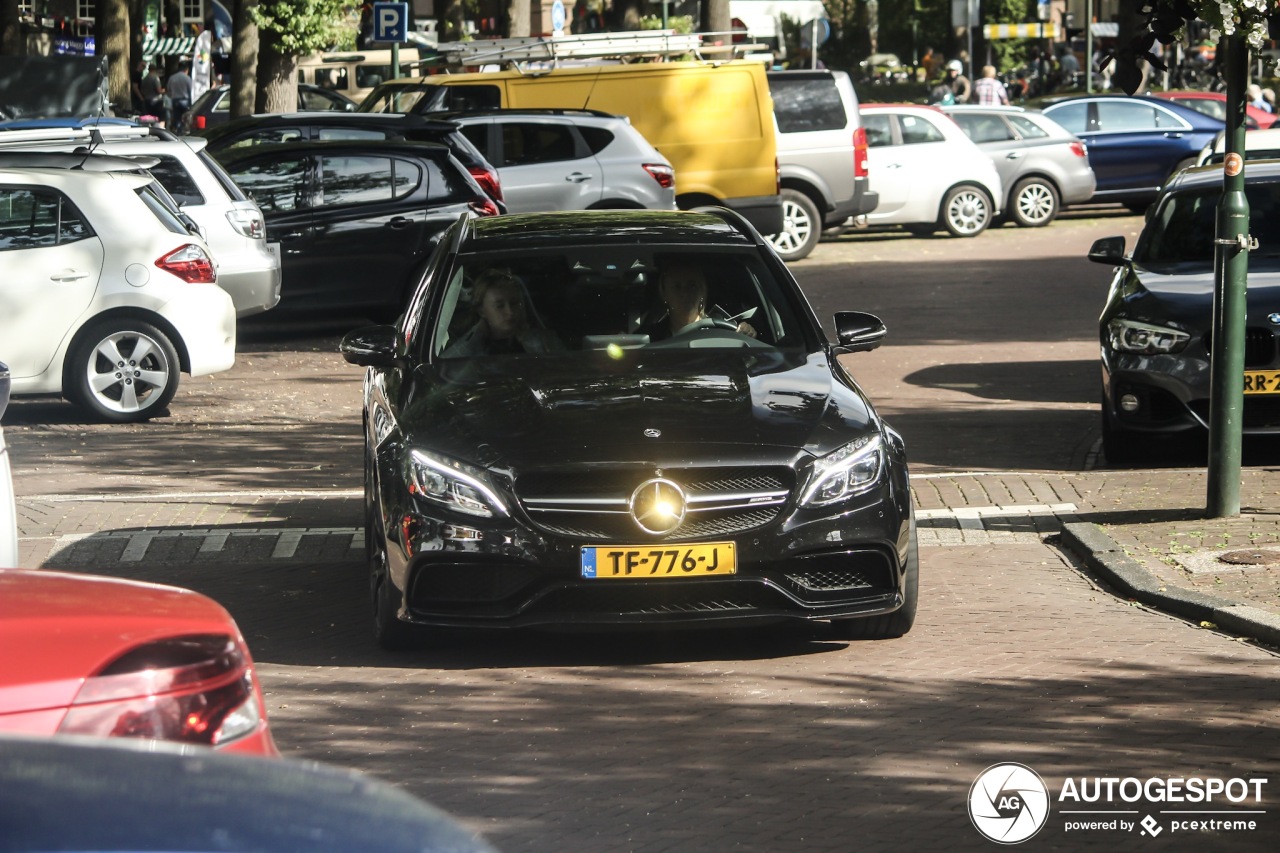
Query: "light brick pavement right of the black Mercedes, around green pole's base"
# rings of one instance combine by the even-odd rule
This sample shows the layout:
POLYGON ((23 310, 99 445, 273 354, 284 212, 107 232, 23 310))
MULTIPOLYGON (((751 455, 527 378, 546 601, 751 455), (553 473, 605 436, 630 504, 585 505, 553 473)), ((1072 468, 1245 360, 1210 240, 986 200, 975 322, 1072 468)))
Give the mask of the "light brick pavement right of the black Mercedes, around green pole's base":
POLYGON ((914 476, 920 544, 1061 534, 1120 594, 1280 646, 1280 470, 1245 469, 1240 516, 1207 520, 1203 469, 914 476))

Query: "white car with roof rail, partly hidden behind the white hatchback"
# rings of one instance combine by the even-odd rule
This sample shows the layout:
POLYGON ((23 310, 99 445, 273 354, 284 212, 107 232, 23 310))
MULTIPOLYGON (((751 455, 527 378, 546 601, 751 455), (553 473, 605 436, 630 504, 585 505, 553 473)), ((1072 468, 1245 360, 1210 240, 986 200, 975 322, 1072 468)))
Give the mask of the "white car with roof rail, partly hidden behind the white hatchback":
POLYGON ((218 264, 218 284, 230 293, 236 315, 261 314, 280 301, 280 261, 266 246, 262 211, 205 145, 163 128, 99 122, 0 133, 0 152, 92 150, 151 159, 151 174, 200 225, 218 264))

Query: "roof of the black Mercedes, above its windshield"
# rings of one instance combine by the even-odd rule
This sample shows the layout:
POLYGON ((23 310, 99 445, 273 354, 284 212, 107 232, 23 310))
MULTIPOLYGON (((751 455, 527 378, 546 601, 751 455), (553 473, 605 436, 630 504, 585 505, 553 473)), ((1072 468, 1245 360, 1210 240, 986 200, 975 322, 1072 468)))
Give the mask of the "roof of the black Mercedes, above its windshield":
POLYGON ((467 222, 465 238, 467 251, 602 243, 758 245, 746 231, 745 220, 732 211, 686 210, 593 210, 589 215, 562 210, 480 216, 467 222))

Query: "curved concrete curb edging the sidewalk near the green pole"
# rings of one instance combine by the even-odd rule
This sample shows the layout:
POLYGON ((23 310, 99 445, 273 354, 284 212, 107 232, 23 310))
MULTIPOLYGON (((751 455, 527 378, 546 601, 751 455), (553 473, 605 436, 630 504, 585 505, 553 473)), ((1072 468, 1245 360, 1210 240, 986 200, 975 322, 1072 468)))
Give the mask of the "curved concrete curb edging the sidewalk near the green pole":
POLYGON ((1098 525, 1074 521, 1062 525, 1062 544, 1076 553, 1091 571, 1134 601, 1197 622, 1219 628, 1271 646, 1280 646, 1280 616, 1258 607, 1171 587, 1126 556, 1098 525))

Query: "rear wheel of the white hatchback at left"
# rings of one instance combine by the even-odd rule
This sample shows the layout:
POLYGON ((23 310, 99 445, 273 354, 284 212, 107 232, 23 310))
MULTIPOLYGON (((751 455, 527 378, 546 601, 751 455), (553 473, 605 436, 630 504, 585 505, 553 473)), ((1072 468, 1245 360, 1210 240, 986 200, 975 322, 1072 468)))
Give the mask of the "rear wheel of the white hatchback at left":
POLYGON ((142 320, 108 319, 77 337, 64 371, 67 398, 101 420, 132 424, 165 414, 182 365, 169 337, 142 320))

